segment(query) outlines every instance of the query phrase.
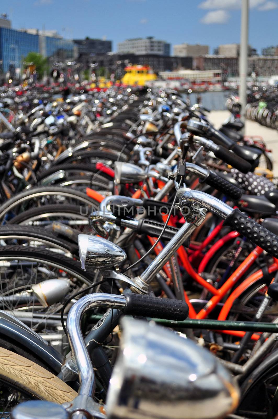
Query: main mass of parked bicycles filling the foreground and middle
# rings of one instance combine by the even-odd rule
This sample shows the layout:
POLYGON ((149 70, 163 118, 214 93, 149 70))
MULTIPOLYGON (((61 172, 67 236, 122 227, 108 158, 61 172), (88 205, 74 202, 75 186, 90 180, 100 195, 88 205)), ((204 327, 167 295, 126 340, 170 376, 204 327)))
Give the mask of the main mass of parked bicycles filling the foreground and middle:
POLYGON ((274 418, 264 142, 170 90, 56 93, 0 114, 0 418, 274 418))

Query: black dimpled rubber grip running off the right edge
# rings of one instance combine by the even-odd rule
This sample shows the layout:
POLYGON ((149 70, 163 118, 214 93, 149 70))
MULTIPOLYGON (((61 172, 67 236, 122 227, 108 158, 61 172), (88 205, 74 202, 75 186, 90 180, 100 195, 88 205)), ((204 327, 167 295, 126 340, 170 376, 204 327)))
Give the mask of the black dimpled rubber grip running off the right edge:
POLYGON ((223 225, 229 225, 271 256, 278 258, 278 237, 243 214, 238 208, 231 212, 223 225))

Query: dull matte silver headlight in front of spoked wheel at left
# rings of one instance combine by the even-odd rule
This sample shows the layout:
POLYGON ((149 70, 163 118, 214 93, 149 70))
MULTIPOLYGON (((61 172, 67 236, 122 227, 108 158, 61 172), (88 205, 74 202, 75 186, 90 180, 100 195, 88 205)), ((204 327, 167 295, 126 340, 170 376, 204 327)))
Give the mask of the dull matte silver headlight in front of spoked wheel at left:
POLYGON ((32 285, 31 290, 43 307, 50 307, 52 304, 59 303, 69 292, 69 279, 48 279, 32 285))

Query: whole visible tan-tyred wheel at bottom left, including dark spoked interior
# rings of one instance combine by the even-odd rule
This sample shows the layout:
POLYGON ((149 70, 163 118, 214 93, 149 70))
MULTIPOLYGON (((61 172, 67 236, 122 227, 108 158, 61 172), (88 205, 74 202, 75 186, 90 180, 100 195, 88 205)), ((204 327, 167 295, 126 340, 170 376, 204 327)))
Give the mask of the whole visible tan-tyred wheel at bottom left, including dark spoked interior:
POLYGON ((23 401, 40 399, 62 404, 77 396, 51 372, 1 347, 0 388, 0 419, 10 418, 13 407, 23 401))

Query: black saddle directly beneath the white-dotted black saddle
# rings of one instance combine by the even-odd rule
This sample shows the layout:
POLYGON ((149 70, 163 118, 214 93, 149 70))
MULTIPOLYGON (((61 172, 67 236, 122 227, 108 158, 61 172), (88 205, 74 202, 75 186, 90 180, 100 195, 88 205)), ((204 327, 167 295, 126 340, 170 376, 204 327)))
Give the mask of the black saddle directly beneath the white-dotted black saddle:
POLYGON ((239 209, 250 214, 272 215, 276 207, 264 196, 242 195, 238 201, 239 209))

